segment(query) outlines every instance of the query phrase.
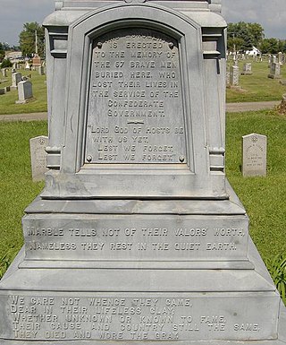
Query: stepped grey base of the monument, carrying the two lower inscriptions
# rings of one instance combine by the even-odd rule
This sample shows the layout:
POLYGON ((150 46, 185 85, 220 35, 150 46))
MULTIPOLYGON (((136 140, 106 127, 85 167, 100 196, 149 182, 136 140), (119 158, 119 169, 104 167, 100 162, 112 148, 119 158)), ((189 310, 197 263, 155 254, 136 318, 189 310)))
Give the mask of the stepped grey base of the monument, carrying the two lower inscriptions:
MULTIPOLYGON (((0 282, 1 345, 106 345, 111 341, 125 345, 138 341, 145 345, 154 341, 160 345, 285 344, 285 307, 248 237, 245 211, 231 189, 229 192, 230 200, 223 201, 77 203, 38 198, 23 219, 26 250, 21 250, 0 282), (114 210, 112 220, 111 210, 114 210), (119 210, 126 213, 118 214, 119 210), (201 252, 194 251, 193 245, 188 246, 187 256, 181 251, 181 259, 173 258, 175 250, 171 246, 167 249, 166 244, 166 238, 172 242, 172 229, 177 229, 173 227, 181 227, 177 232, 183 234, 181 243, 190 244, 196 240, 189 238, 188 225, 196 221, 208 224, 210 236, 210 229, 218 219, 221 225, 232 222, 230 229, 236 229, 232 233, 223 230, 224 235, 231 237, 225 243, 235 243, 232 254, 221 241, 221 245, 209 247, 212 250, 208 255, 212 251, 220 253, 213 254, 212 259, 203 256, 199 259, 201 252), (84 231, 75 230, 75 220, 79 220, 84 231), (53 221, 57 222, 57 228, 53 221), (119 233, 117 250, 113 250, 112 256, 108 251, 97 253, 103 248, 99 245, 103 239, 99 230, 90 238, 88 221, 94 229, 101 229, 103 224, 106 229, 115 226, 125 229, 126 237, 131 236, 131 223, 137 229, 143 224, 150 229, 150 224, 157 227, 161 222, 162 231, 158 227, 150 229, 150 250, 143 250, 143 254, 138 251, 137 258, 130 251, 124 259, 121 252, 126 253, 128 246, 123 246, 119 233), (49 224, 50 231, 45 230, 44 236, 45 224, 49 224), (38 233, 36 228, 40 229, 38 233), (164 229, 168 229, 170 237, 164 236, 167 234, 164 229), (64 237, 65 232, 72 234, 71 241, 64 237), (49 237, 48 245, 40 245, 38 237, 49 237), (55 237, 61 237, 59 243, 65 245, 56 246, 55 237), (84 250, 75 237, 81 237, 84 250), (248 238, 248 243, 244 238, 248 238), (161 249, 157 250, 153 244, 159 241, 161 249), (80 259, 64 254, 72 251, 73 242, 80 259), (94 245, 87 245, 89 242, 94 245), (240 246, 248 247, 246 254, 240 246), (62 259, 57 252, 61 252, 62 259), (55 255, 54 259, 51 255, 55 255)), ((202 227, 196 229, 201 246, 207 247, 202 238, 206 231, 202 227)), ((114 236, 116 231, 110 233, 110 237, 114 236)), ((134 232, 134 243, 136 238, 134 232)), ((212 237, 207 238, 212 243, 212 237)), ((114 239, 105 239, 105 246, 110 245, 108 250, 114 243, 114 239)))

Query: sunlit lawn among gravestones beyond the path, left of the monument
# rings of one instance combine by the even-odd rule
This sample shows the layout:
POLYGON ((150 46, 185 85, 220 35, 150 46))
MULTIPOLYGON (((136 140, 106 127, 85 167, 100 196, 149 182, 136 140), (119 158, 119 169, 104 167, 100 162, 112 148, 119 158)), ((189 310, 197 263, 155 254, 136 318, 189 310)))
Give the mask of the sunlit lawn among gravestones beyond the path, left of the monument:
MULTIPOLYGON (((20 72, 22 76, 31 74, 29 81, 32 82, 34 97, 26 104, 15 104, 18 100, 18 91, 6 92, 0 96, 0 115, 46 112, 46 75, 39 75, 38 71, 24 69, 17 70, 17 72, 20 72)), ((0 89, 12 85, 11 69, 8 71, 7 78, 3 77, 3 79, 8 81, 2 82, 0 89)))

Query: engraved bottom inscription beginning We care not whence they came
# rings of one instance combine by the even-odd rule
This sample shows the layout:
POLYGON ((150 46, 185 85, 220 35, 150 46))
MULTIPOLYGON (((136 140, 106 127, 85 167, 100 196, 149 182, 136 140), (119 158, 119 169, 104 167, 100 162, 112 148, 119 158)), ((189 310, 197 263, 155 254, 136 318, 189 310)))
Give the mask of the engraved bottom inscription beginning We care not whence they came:
POLYGON ((247 309, 241 297, 212 294, 55 293, 6 298, 6 337, 15 340, 257 340, 271 332, 270 337, 275 336, 275 325, 267 322, 270 297, 249 297, 247 309), (251 312, 257 304, 259 320, 251 312), (234 313, 229 313, 230 306, 234 313))

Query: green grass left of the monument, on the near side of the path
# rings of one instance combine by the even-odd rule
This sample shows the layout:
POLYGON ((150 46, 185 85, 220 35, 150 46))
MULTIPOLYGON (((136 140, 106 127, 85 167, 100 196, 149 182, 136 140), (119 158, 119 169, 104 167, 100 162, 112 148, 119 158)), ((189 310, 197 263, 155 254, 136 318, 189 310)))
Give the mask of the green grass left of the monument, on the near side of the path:
POLYGON ((46 132, 43 121, 0 122, 0 258, 23 244, 23 211, 44 185, 31 180, 29 138, 46 132))

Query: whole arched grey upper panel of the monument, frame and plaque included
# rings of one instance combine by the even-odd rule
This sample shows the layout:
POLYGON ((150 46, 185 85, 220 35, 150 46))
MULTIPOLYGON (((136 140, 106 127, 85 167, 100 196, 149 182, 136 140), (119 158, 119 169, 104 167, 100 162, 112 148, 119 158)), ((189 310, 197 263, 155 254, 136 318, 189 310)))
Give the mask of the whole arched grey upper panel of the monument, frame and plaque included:
POLYGON ((213 196, 201 27, 121 4, 81 17, 69 41, 61 194, 213 196))

